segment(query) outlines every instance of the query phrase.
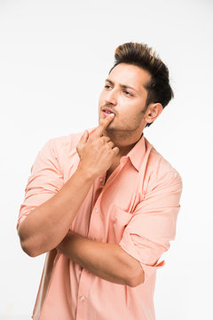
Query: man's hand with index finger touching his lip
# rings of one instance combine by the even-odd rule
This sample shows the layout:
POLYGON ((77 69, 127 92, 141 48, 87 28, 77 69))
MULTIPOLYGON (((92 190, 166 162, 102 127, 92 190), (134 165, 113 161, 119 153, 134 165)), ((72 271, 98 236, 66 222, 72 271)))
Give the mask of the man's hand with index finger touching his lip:
POLYGON ((101 119, 99 126, 90 137, 89 132, 85 131, 77 145, 77 152, 81 159, 79 168, 91 178, 95 179, 106 172, 119 153, 119 148, 114 147, 114 142, 109 137, 103 136, 103 132, 113 118, 114 116, 106 116, 101 119))

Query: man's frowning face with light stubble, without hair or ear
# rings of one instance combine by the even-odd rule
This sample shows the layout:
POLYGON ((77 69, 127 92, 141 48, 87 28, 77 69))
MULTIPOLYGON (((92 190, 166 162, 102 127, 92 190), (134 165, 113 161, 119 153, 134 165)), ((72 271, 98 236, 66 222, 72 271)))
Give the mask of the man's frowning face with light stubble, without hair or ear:
POLYGON ((151 75, 146 70, 134 65, 120 63, 113 68, 99 96, 99 121, 109 112, 115 115, 106 132, 143 131, 148 93, 145 85, 150 80, 151 75))

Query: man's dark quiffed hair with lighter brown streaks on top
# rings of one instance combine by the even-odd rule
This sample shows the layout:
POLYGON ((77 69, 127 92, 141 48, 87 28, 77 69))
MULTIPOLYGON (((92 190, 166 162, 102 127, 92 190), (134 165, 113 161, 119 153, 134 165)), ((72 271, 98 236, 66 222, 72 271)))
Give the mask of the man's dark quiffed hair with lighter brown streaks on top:
MULTIPOLYGON (((146 84, 148 92, 146 108, 150 103, 157 102, 160 102, 162 108, 165 108, 174 97, 170 87, 169 69, 147 44, 132 42, 121 44, 115 49, 114 59, 113 68, 120 63, 127 63, 150 73, 151 80, 146 84)), ((113 68, 110 69, 109 74, 113 68)), ((151 124, 146 124, 146 126, 151 124)))

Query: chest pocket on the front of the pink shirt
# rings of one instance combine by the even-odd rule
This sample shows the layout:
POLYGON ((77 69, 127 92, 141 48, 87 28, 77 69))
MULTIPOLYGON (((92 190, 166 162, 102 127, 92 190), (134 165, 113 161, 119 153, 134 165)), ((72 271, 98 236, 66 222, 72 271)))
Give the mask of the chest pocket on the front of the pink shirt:
POLYGON ((107 243, 119 244, 124 229, 132 218, 132 214, 114 205, 109 216, 107 243))

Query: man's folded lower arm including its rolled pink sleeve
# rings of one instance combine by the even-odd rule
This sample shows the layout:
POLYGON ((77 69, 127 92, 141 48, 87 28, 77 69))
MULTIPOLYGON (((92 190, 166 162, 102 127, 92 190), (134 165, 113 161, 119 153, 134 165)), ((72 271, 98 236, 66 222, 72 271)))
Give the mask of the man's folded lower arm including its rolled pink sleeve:
POLYGON ((130 286, 146 283, 156 268, 162 268, 164 261, 158 260, 175 238, 182 191, 181 177, 173 170, 162 172, 154 185, 135 208, 119 245, 68 233, 58 251, 107 281, 130 286))

